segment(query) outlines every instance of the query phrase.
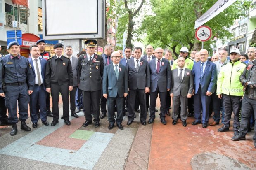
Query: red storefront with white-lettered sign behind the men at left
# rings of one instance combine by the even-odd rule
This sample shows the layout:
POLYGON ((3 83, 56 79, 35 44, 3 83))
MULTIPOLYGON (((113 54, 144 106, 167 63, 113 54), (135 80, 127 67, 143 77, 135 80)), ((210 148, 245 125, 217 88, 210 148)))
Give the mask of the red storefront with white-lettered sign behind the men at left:
POLYGON ((29 47, 31 45, 36 45, 36 42, 39 39, 40 38, 34 34, 30 34, 30 33, 22 34, 22 45, 20 46, 21 47, 20 55, 28 58, 29 47))

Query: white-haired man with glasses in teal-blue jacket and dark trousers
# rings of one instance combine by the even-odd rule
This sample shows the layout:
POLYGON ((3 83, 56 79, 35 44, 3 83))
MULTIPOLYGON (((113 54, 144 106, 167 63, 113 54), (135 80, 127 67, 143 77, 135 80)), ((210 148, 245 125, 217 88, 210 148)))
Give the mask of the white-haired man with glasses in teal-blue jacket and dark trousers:
POLYGON ((112 63, 104 68, 102 92, 103 97, 107 99, 109 129, 116 125, 123 129, 123 98, 128 95, 128 74, 126 67, 119 64, 121 54, 117 51, 112 53, 112 63), (117 117, 114 119, 115 103, 117 107, 117 117))

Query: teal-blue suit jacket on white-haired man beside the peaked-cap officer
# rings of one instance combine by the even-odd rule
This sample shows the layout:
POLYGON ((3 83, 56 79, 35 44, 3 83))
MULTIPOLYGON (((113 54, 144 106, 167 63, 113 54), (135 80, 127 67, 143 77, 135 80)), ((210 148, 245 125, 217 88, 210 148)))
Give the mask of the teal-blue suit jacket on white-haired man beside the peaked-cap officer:
POLYGON ((102 92, 108 97, 115 98, 117 95, 123 97, 123 93, 128 93, 128 75, 126 67, 119 64, 119 75, 116 78, 113 63, 104 68, 102 92))

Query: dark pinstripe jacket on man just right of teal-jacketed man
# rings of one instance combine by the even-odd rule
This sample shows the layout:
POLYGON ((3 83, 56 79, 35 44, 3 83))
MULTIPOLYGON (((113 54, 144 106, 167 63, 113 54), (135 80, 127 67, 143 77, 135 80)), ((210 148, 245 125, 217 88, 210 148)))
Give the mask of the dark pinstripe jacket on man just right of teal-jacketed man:
POLYGON ((126 64, 126 70, 128 73, 128 84, 129 89, 145 89, 145 87, 150 87, 150 71, 149 64, 147 60, 140 58, 140 67, 137 72, 135 68, 134 58, 128 60, 126 64))

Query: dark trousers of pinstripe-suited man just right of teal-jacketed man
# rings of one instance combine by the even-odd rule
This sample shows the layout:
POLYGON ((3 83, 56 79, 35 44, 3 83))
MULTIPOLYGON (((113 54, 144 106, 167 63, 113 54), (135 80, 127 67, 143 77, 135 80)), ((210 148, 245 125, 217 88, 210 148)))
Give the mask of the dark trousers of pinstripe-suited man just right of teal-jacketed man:
POLYGON ((129 91, 129 103, 128 103, 128 121, 134 120, 134 108, 135 99, 140 104, 140 121, 146 121, 147 111, 146 111, 146 94, 144 89, 130 90, 129 91), (138 97, 138 98, 137 98, 138 97))

